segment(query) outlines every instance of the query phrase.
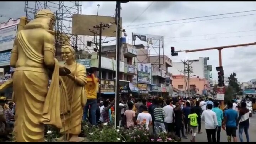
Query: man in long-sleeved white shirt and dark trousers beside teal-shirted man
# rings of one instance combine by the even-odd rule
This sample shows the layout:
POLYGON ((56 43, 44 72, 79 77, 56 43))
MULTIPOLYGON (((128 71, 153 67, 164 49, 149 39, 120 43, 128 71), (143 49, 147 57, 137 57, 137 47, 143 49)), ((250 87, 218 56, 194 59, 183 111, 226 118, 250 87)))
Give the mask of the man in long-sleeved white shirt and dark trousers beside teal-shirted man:
POLYGON ((216 143, 216 131, 218 130, 218 121, 216 113, 212 111, 212 104, 207 105, 207 110, 203 111, 201 119, 204 121, 208 143, 216 143))

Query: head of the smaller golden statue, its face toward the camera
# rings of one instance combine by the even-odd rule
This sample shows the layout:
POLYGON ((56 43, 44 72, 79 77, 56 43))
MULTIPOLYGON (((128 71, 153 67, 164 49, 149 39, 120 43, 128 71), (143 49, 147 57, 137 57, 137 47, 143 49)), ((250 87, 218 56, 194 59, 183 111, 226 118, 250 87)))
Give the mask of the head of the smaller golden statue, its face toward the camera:
POLYGON ((75 60, 75 49, 71 46, 62 46, 61 54, 63 60, 75 60))

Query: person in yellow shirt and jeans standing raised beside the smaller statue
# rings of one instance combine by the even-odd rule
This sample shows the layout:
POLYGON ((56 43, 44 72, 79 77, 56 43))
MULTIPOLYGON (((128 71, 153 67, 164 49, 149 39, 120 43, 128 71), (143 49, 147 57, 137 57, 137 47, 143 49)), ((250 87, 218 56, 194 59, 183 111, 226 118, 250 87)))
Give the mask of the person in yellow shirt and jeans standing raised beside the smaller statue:
MULTIPOLYGON (((90 69, 91 70, 91 69, 90 69)), ((91 70, 87 71, 87 84, 85 85, 85 94, 87 97, 87 102, 84 107, 84 116, 83 120, 86 121, 87 113, 89 108, 91 109, 91 122, 92 125, 96 126, 96 109, 97 109, 97 82, 98 78, 93 74, 94 72, 91 70)))

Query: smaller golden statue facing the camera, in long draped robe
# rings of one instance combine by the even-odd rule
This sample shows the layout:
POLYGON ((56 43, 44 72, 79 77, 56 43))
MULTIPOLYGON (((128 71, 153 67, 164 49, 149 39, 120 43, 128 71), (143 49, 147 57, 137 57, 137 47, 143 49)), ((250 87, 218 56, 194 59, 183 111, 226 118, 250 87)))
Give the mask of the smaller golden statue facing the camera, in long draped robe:
POLYGON ((68 134, 66 140, 69 142, 81 142, 84 138, 80 138, 78 135, 81 132, 83 107, 86 104, 84 91, 86 68, 76 62, 75 50, 71 46, 62 47, 62 58, 66 61, 65 68, 71 71, 71 74, 62 76, 71 107, 70 116, 65 118, 64 127, 60 130, 60 133, 68 134))

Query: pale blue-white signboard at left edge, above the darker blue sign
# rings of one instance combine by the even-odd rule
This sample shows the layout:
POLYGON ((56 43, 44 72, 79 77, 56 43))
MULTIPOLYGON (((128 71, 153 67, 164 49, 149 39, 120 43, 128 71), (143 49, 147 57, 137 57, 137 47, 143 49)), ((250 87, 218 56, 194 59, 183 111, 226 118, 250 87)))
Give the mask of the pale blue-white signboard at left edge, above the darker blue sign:
POLYGON ((17 34, 17 25, 0 29, 0 51, 12 49, 17 34))

